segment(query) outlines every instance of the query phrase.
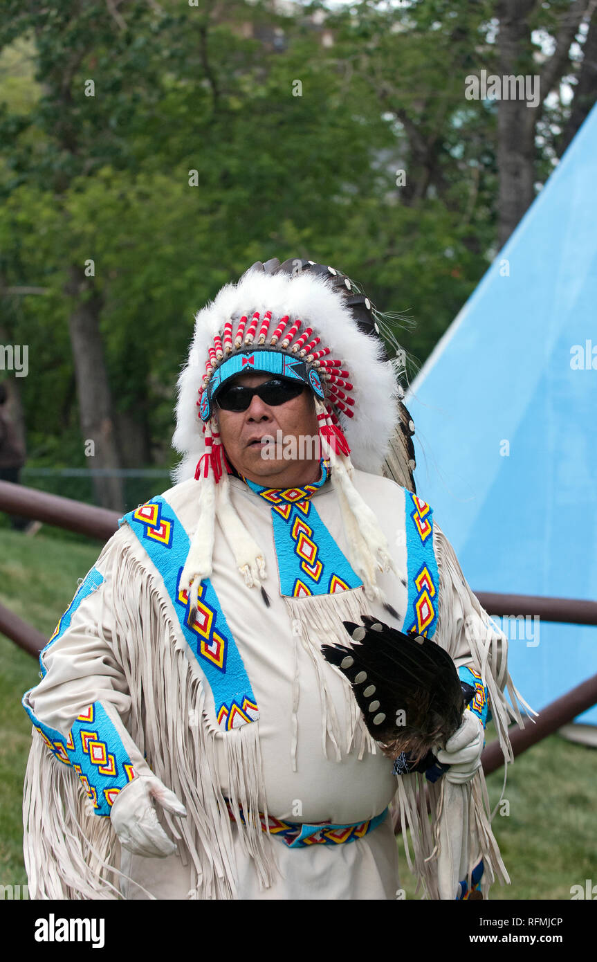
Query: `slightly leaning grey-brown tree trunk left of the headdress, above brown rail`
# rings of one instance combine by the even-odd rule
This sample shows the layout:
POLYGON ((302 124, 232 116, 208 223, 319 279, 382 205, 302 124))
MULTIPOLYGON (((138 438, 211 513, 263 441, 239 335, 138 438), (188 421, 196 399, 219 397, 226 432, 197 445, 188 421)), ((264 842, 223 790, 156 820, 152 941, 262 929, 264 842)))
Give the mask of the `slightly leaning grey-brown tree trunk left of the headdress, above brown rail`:
MULTIPOLYGON (((65 293, 77 298, 68 318, 70 342, 79 394, 83 442, 90 448, 92 468, 120 468, 120 457, 112 418, 112 403, 104 346, 99 330, 101 297, 93 291, 88 300, 82 295, 93 290, 93 282, 79 266, 69 268, 65 293), (92 442, 92 445, 90 444, 92 442)), ((98 504, 114 511, 124 510, 122 478, 95 477, 93 490, 98 504)))

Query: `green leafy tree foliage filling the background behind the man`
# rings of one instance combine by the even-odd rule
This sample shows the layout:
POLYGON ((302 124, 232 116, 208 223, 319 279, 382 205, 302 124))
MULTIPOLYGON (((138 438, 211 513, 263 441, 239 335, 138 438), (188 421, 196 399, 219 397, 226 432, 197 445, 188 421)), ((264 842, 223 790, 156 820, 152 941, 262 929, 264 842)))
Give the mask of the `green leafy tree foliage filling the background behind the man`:
MULTIPOLYGON (((463 86, 496 65, 495 3, 347 4, 326 11, 330 47, 318 6, 5 3, 0 285, 45 291, 3 298, 3 336, 30 349, 33 463, 84 465, 68 332, 84 296, 101 298, 113 407, 162 465, 193 315, 254 261, 351 274, 407 316, 396 333, 419 364, 485 272, 496 105, 463 86), (87 294, 66 294, 89 262, 87 294)), ((542 4, 537 29, 561 10, 542 4)))

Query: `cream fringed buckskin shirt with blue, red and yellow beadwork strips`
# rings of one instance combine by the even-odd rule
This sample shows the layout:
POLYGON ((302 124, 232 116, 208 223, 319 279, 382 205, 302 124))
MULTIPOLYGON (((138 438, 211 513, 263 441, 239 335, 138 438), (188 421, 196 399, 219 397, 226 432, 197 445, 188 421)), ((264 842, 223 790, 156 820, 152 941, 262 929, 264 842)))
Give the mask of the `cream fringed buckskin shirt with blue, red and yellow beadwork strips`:
MULTIPOLYGON (((441 845, 425 862, 441 833, 432 836, 416 801, 423 776, 392 773, 350 685, 320 652, 346 644, 342 620, 361 614, 424 632, 473 680, 471 708, 485 723, 489 707, 511 757, 507 727, 519 714, 504 696, 507 686, 515 692, 506 639, 431 507, 355 470, 355 488, 406 573, 406 584, 391 572, 378 577, 397 619, 368 600, 348 561, 330 470, 322 461, 318 482, 284 492, 229 478, 236 512, 263 550, 269 604, 239 577, 216 522, 212 573, 192 619, 179 582, 197 526, 194 479, 121 519, 42 652, 42 680, 23 698, 35 728, 25 792, 32 898, 395 899, 394 809, 412 829, 412 868, 431 898, 443 897, 442 873, 458 881, 482 858, 485 878, 508 879, 482 772, 452 787, 453 812, 465 820, 459 864, 448 866, 441 845), (122 848, 110 818, 114 804, 126 806, 130 782, 149 772, 187 809, 176 818, 158 806, 178 847, 164 859, 122 848)), ((429 789, 433 821, 441 780, 429 789)))

